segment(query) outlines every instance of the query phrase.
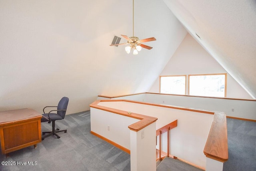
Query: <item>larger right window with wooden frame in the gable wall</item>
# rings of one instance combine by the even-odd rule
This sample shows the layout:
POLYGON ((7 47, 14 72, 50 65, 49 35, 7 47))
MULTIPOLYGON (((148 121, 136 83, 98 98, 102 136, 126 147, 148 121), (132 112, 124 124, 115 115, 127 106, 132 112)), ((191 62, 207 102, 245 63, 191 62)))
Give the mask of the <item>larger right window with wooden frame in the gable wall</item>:
POLYGON ((226 97, 227 74, 188 75, 188 94, 226 97))

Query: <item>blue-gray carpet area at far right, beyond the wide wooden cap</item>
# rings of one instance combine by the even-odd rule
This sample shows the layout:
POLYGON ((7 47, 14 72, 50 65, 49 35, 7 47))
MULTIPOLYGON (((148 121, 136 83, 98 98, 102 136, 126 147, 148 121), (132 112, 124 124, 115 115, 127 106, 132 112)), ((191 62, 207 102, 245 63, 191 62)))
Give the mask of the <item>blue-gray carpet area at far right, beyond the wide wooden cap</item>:
POLYGON ((256 122, 227 118, 228 161, 223 171, 256 171, 256 122))

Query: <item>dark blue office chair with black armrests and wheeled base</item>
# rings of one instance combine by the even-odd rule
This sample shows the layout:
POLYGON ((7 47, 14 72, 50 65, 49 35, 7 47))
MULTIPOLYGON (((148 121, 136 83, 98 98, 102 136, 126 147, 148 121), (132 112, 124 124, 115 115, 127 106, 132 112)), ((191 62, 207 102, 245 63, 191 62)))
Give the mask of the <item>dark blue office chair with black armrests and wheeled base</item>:
POLYGON ((62 97, 62 99, 60 99, 60 101, 58 103, 58 106, 44 107, 44 109, 46 109, 47 107, 57 107, 57 109, 51 110, 48 113, 45 113, 44 109, 43 109, 44 114, 42 114, 43 117, 41 119, 41 122, 46 122, 46 121, 48 121, 48 123, 52 122, 52 131, 43 132, 42 140, 44 140, 45 137, 48 137, 50 135, 56 135, 57 138, 60 138, 60 136, 57 134, 58 132, 64 132, 64 133, 67 132, 66 129, 64 129, 64 130, 60 130, 58 128, 55 129, 55 121, 64 119, 64 117, 66 115, 66 110, 68 107, 68 100, 69 100, 68 97, 62 97), (52 113, 52 111, 55 111, 55 113, 52 113))

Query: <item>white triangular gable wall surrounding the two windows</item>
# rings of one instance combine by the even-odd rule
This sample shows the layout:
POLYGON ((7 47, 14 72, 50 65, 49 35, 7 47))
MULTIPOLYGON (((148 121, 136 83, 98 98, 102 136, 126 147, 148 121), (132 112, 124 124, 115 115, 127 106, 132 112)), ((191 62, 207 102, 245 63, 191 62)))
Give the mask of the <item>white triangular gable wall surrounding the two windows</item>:
MULTIPOLYGON (((160 76, 218 73, 227 73, 227 71, 190 34, 187 34, 160 76)), ((159 93, 159 77, 148 92, 159 93)), ((227 74, 227 97, 252 99, 229 74, 227 74)))

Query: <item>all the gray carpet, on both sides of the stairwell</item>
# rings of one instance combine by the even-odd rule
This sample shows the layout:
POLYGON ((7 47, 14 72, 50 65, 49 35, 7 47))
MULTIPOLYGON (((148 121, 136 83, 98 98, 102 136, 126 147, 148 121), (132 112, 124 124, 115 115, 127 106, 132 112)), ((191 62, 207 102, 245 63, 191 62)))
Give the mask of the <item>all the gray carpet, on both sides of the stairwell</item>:
MULTIPOLYGON (((227 118, 229 159, 223 171, 256 171, 256 122, 227 118)), ((42 123, 42 131, 50 131, 51 124, 42 123)), ((0 165, 0 171, 130 171, 130 155, 90 133, 90 111, 66 115, 56 121, 56 127, 67 129, 47 137, 38 144, 0 155, 0 161, 15 165, 0 165), (36 162, 28 165, 28 162, 36 162), (20 163, 20 165, 18 165, 20 163), (21 165, 26 163, 26 165, 21 165)), ((179 163, 178 170, 186 163, 179 163)), ((164 167, 162 171, 173 169, 164 167)), ((158 167, 160 167, 160 165, 158 167)), ((174 170, 176 171, 176 170, 174 170)))

